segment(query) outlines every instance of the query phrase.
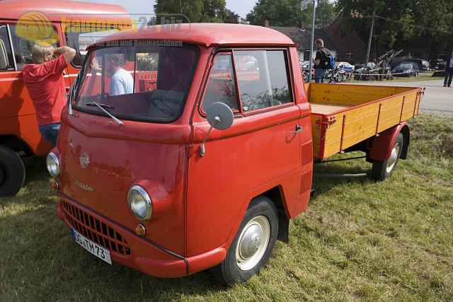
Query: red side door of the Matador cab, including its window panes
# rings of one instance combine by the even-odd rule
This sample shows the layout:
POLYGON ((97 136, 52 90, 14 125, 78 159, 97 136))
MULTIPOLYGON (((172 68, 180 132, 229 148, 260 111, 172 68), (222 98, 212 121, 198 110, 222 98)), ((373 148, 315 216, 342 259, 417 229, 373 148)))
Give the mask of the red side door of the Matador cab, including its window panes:
MULTIPOLYGON (((294 103, 286 50, 217 52, 195 114, 194 153, 189 159, 187 199, 188 256, 224 245, 234 237, 248 193, 269 182, 292 186, 297 199, 300 110, 294 103), (205 111, 222 102, 234 112, 232 126, 213 130, 205 111), (281 180, 281 182, 280 182, 281 180), (288 181, 290 180, 290 181, 288 181)), ((283 188, 285 190, 285 188, 283 188)))

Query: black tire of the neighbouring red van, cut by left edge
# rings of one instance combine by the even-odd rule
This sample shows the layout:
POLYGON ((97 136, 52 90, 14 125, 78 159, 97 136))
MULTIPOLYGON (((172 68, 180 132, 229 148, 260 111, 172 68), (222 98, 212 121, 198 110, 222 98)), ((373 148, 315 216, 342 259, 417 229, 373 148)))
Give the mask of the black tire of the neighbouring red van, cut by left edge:
POLYGON ((0 146, 0 197, 16 195, 25 180, 25 167, 18 153, 0 146))

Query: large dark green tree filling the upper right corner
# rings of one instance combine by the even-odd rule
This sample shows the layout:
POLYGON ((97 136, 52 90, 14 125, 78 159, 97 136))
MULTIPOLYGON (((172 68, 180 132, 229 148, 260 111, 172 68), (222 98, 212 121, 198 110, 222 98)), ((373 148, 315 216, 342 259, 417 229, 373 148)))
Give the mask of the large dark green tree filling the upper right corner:
POLYGON ((376 12, 374 33, 386 49, 430 46, 433 57, 453 38, 452 0, 338 0, 337 5, 364 40, 376 12), (351 12, 363 18, 351 18, 351 12))

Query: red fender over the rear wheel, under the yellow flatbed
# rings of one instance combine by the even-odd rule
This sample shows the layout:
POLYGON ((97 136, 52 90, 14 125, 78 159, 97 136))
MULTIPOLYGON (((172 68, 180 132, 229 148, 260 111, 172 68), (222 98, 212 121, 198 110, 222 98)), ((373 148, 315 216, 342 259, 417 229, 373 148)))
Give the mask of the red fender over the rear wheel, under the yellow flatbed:
POLYGON ((407 122, 397 124, 396 126, 379 133, 379 136, 374 137, 371 142, 368 158, 374 159, 375 161, 385 161, 386 159, 389 159, 391 149, 393 149, 396 137, 398 137, 400 132, 403 134, 404 139, 400 158, 406 159, 410 142, 409 126, 407 122))

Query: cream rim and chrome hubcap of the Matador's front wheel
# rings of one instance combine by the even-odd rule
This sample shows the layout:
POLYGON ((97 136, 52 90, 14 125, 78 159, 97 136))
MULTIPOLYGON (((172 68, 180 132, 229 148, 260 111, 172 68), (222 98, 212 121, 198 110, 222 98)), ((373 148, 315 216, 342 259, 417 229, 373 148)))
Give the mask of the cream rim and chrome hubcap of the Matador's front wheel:
POLYGON ((270 223, 265 216, 256 216, 248 221, 236 245, 236 264, 241 270, 255 267, 268 248, 270 223))

